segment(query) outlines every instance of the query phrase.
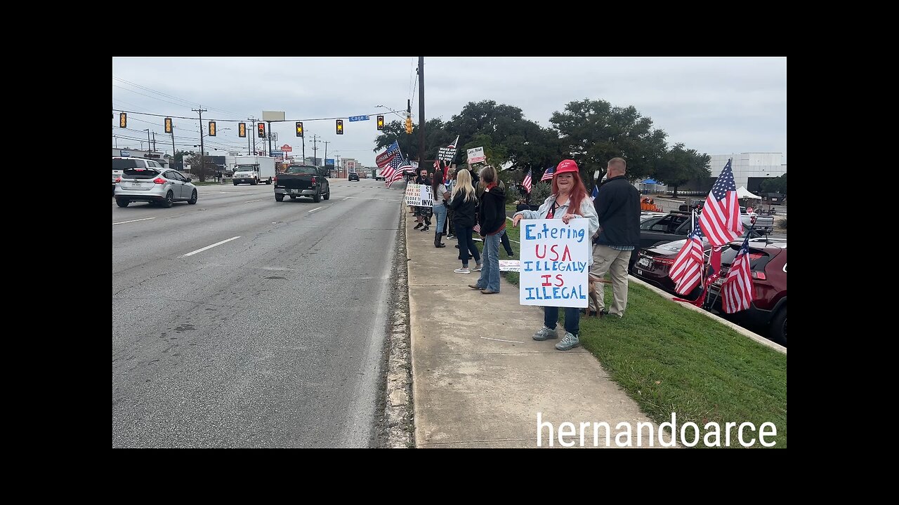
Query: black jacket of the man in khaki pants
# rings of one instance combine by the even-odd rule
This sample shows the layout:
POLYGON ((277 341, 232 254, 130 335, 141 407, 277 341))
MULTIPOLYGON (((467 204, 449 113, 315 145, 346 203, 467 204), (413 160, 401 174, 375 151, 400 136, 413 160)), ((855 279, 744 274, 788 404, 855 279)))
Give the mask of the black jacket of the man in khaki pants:
POLYGON ((600 219, 596 244, 640 247, 640 192, 626 176, 603 182, 593 208, 600 219))

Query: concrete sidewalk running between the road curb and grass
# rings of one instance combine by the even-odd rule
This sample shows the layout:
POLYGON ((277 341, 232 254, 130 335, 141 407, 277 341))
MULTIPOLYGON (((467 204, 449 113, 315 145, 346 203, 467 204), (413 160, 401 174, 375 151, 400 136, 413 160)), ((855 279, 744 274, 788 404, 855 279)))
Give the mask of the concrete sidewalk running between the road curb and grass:
MULTIPOLYGON (((560 351, 558 340, 531 339, 543 324, 541 308, 519 305, 519 289, 505 279, 498 295, 468 288, 480 272, 453 273, 461 266, 456 241, 435 248, 433 228, 414 230, 404 213, 415 447, 538 447, 538 412, 552 423, 552 447, 560 447, 566 421, 575 430, 582 422, 608 423, 611 447, 616 425, 628 422, 636 446, 637 422, 652 421, 599 361, 583 348, 560 351)), ((561 324, 556 329, 565 334, 561 324)), ((542 447, 549 430, 542 430, 542 447)), ((600 436, 605 447, 604 429, 600 436)), ((592 447, 592 428, 584 437, 584 447, 592 447)), ((565 441, 580 446, 578 435, 566 433, 565 441)))

